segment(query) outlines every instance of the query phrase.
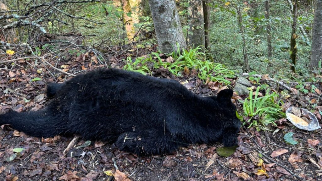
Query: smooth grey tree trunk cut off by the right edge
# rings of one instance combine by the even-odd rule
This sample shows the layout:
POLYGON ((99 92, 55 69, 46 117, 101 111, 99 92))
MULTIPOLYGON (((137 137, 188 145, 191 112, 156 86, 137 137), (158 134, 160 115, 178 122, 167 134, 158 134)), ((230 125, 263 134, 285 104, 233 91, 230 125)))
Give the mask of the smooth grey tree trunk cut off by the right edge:
POLYGON ((311 67, 317 67, 322 60, 322 0, 317 0, 314 8, 312 29, 311 67))

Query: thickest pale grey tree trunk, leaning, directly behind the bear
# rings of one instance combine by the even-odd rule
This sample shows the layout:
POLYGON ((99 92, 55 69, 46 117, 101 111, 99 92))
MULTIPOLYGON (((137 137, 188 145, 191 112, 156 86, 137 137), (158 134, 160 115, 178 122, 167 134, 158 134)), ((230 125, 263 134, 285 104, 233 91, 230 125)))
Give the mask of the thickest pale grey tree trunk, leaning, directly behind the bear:
POLYGON ((174 0, 149 0, 159 49, 164 53, 187 48, 174 0))

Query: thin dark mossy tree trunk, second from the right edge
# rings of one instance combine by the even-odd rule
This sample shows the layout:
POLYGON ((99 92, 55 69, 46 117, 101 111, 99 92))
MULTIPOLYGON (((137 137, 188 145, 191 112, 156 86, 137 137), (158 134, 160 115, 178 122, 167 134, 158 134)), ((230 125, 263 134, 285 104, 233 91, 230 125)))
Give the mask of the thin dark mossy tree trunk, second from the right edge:
POLYGON ((292 34, 291 34, 291 55, 290 59, 292 61, 291 70, 295 72, 295 65, 296 65, 296 26, 297 26, 297 20, 298 20, 298 0, 294 0, 293 5, 293 24, 292 24, 292 34))

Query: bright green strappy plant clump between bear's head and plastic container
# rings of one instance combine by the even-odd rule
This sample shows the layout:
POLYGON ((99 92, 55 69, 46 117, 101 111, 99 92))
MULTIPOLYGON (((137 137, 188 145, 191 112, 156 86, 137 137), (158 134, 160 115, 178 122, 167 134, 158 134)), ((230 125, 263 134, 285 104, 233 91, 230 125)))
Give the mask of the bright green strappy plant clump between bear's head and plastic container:
POLYGON ((243 125, 250 123, 248 128, 256 127, 257 130, 268 130, 267 125, 275 125, 274 121, 285 118, 285 113, 279 106, 280 101, 276 103, 278 95, 275 92, 259 97, 259 90, 260 87, 257 87, 254 98, 251 90, 249 97, 241 101, 243 103, 243 115, 247 118, 243 125))

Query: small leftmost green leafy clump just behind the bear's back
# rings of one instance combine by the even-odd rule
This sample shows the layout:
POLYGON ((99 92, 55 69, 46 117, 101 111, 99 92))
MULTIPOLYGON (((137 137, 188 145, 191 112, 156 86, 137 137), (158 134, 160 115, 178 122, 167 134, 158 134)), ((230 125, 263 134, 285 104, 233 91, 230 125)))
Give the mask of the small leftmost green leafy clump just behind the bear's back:
POLYGON ((124 65, 123 69, 124 70, 129 70, 129 71, 135 71, 139 72, 143 75, 147 75, 147 73, 151 73, 147 65, 144 63, 147 61, 144 57, 138 57, 135 59, 135 61, 132 61, 131 57, 128 57, 126 59, 126 65, 124 65))

